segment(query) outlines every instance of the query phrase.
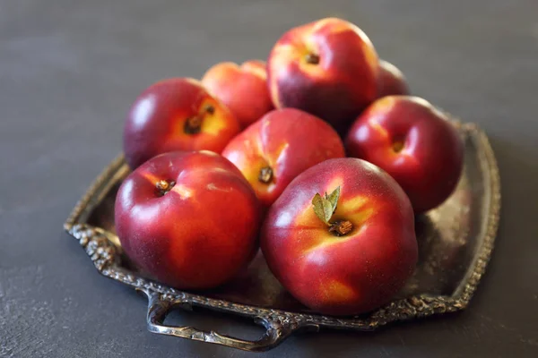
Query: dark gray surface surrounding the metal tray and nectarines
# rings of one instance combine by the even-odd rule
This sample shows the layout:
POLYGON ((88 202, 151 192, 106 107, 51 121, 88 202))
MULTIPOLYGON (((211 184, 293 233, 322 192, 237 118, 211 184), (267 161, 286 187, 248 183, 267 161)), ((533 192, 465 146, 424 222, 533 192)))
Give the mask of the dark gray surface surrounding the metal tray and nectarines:
MULTIPOLYGON (((248 355, 147 332, 145 300, 100 277, 62 223, 120 151, 141 90, 265 58, 285 30, 329 15, 365 30, 414 93, 488 132, 502 179, 498 244, 467 311, 291 337, 260 356, 538 356, 536 0, 0 0, 0 356, 248 355)), ((204 317, 187 315, 252 336, 204 317)))

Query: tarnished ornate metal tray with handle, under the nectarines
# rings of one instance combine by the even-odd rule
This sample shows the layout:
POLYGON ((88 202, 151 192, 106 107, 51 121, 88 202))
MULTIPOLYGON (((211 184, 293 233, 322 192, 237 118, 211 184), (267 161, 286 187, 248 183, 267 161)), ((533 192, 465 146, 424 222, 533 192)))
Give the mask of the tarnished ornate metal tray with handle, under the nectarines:
POLYGON ((322 316, 295 301, 256 259, 229 285, 203 293, 163 286, 143 277, 122 254, 115 234, 114 200, 129 173, 116 158, 91 185, 65 222, 100 274, 132 286, 148 297, 147 327, 153 333, 190 338, 246 351, 264 351, 302 329, 372 330, 410 320, 463 310, 485 271, 499 223, 499 169, 486 135, 474 124, 454 122, 465 143, 464 175, 456 192, 438 209, 417 217, 420 262, 392 303, 357 317, 322 316), (174 308, 201 306, 253 319, 265 327, 255 341, 164 324, 174 308))

